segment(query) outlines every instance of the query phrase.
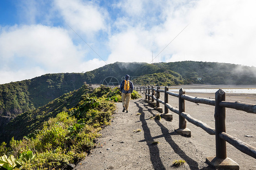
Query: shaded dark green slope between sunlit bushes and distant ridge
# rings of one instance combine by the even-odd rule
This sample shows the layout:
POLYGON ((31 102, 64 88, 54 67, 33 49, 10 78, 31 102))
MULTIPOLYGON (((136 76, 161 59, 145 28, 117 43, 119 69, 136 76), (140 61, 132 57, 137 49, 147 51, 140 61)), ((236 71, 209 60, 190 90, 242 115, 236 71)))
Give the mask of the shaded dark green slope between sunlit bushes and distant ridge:
POLYGON ((12 136, 17 140, 22 139, 24 135, 40 129, 44 121, 55 117, 60 111, 75 107, 81 96, 89 92, 92 92, 92 89, 83 85, 79 90, 64 94, 42 107, 16 116, 5 126, 5 130, 0 134, 0 141, 9 141, 12 136))

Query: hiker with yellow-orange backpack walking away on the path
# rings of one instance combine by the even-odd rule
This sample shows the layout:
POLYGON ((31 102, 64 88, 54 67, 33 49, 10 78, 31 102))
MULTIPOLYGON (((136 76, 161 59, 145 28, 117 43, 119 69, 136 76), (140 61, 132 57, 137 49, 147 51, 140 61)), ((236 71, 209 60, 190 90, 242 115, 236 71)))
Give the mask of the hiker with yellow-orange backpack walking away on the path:
POLYGON ((130 76, 125 75, 125 80, 121 82, 120 90, 122 92, 123 112, 128 113, 129 101, 133 93, 133 82, 129 80, 130 76))

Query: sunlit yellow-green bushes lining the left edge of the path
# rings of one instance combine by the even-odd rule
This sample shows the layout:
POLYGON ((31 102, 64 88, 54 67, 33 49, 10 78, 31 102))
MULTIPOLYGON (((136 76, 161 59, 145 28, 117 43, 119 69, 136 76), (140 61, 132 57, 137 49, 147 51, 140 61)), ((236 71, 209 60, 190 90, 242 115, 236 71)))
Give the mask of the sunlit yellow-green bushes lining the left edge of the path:
POLYGON ((0 165, 10 170, 14 167, 20 170, 64 169, 82 160, 95 146, 94 140, 100 136, 98 131, 102 125, 109 124, 114 110, 114 103, 105 97, 83 96, 75 108, 44 122, 41 130, 23 140, 12 138, 9 147, 2 143, 0 154, 6 162, 0 161, 0 165), (31 156, 32 152, 35 156, 31 156))

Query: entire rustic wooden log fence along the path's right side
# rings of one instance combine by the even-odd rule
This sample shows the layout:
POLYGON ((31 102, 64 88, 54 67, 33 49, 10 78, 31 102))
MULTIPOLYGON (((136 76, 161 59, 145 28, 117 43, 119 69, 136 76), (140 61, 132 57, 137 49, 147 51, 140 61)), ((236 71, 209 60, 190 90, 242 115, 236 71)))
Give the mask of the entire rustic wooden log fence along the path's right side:
POLYGON ((190 130, 186 128, 186 120, 202 128, 208 134, 215 135, 216 156, 206 158, 206 162, 208 162, 210 165, 213 165, 216 168, 226 168, 235 170, 239 169, 239 165, 235 161, 227 157, 226 142, 230 143, 241 152, 250 155, 251 157, 256 159, 256 147, 248 145, 245 142, 237 139, 236 137, 227 134, 225 129, 225 108, 243 110, 247 113, 255 114, 256 105, 241 103, 238 101, 225 101, 225 92, 221 89, 215 93, 215 100, 185 95, 184 89, 180 89, 179 94, 173 93, 169 91, 169 88, 167 86, 164 88, 164 90, 160 90, 159 86, 157 88, 154 88, 154 86, 135 87, 135 90, 145 92, 145 100, 152 103, 157 108, 156 110, 161 111, 159 103, 162 103, 164 105, 164 113, 161 116, 172 119, 172 114, 169 114, 169 110, 178 114, 179 129, 176 129, 175 131, 177 131, 180 135, 191 136, 190 130), (160 93, 164 93, 164 101, 159 99, 160 93), (168 95, 172 95, 174 97, 179 98, 179 109, 174 108, 168 103, 168 95), (194 103, 215 106, 215 129, 206 125, 204 122, 200 120, 196 120, 195 118, 191 117, 188 113, 185 113, 185 100, 194 103))

